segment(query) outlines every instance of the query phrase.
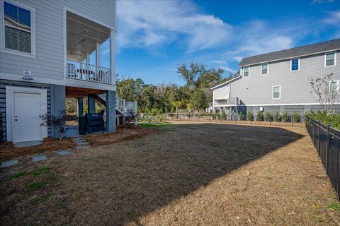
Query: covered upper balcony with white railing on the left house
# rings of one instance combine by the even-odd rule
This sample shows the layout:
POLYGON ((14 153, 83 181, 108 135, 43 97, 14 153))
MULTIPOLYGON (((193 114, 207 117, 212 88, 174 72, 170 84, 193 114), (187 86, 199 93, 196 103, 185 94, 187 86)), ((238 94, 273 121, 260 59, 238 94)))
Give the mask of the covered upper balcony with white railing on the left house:
POLYGON ((113 30, 67 11, 66 78, 114 84, 111 73, 113 30))

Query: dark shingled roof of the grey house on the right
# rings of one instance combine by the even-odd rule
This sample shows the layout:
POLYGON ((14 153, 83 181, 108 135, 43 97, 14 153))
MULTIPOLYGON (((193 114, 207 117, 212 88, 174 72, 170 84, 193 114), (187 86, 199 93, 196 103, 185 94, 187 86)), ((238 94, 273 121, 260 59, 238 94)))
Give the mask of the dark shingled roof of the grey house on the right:
POLYGON ((268 61, 276 61, 279 59, 287 59, 291 57, 301 57, 318 52, 327 52, 331 50, 340 49, 340 39, 330 40, 327 42, 319 42, 314 44, 307 44, 302 47, 295 47, 291 49, 270 52, 268 54, 256 55, 253 57, 246 57, 242 59, 239 66, 246 66, 251 64, 259 64, 268 61))

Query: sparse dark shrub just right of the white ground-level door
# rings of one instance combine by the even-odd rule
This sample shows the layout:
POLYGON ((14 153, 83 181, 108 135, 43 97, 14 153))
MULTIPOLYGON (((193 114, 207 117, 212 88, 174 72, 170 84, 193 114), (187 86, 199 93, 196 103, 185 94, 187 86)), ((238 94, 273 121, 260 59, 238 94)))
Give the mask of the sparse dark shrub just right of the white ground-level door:
POLYGON ((42 114, 39 116, 42 119, 41 126, 53 126, 59 132, 59 139, 61 140, 66 133, 66 120, 67 115, 64 111, 60 113, 60 115, 53 114, 42 114))

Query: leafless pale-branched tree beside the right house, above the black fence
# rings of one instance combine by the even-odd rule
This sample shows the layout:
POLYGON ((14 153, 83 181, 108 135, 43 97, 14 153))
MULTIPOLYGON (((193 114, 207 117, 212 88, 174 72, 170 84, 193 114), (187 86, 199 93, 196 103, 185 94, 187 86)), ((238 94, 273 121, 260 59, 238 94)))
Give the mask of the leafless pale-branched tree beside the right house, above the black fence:
POLYGON ((322 105, 323 110, 327 114, 334 113, 334 105, 339 103, 340 97, 339 83, 333 81, 332 77, 333 73, 330 73, 323 78, 316 78, 310 81, 314 94, 317 95, 315 99, 322 105))

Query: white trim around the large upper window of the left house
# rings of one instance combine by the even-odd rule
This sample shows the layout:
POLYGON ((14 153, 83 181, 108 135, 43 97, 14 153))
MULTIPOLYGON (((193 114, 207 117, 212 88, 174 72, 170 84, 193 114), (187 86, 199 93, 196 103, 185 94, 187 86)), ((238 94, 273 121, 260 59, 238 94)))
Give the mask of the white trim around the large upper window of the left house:
POLYGON ((30 6, 23 5, 21 3, 18 3, 17 1, 13 0, 0 0, 0 37, 2 42, 0 42, 0 52, 5 52, 9 54, 16 54, 23 57, 36 57, 35 52, 35 8, 32 8, 30 6), (5 22, 4 22, 4 1, 8 2, 9 4, 13 4, 15 6, 18 6, 20 8, 24 8, 28 11, 30 11, 30 53, 21 52, 15 49, 7 49, 5 47, 5 22))

